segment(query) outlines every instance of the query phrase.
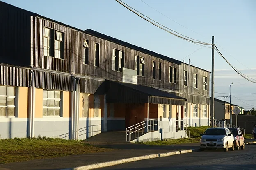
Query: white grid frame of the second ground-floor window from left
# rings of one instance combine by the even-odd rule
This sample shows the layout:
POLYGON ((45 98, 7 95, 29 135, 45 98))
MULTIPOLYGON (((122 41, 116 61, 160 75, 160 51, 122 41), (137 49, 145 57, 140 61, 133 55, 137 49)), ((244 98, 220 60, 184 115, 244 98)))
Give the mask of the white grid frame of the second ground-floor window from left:
POLYGON ((47 113, 46 113, 46 115, 43 115, 43 117, 60 117, 61 116, 61 101, 62 101, 62 95, 61 95, 61 91, 54 91, 54 90, 43 90, 43 92, 47 92, 47 98, 45 98, 45 97, 43 97, 43 101, 46 101, 46 106, 44 106, 43 105, 43 109, 47 109, 47 113), (49 91, 52 91, 52 92, 54 92, 54 98, 49 98, 49 91), (59 98, 55 98, 55 93, 56 92, 59 92, 59 98), (54 107, 49 107, 49 100, 54 100, 54 107), (59 106, 55 106, 55 102, 56 101, 59 101, 59 106), (48 109, 53 109, 54 111, 53 111, 53 116, 49 116, 48 115, 48 109), (57 115, 57 116, 55 116, 55 109, 57 110, 59 110, 59 115, 57 115))

